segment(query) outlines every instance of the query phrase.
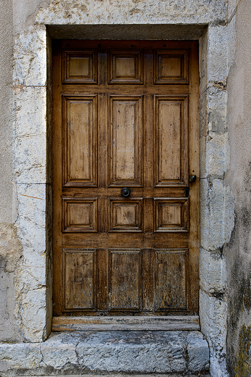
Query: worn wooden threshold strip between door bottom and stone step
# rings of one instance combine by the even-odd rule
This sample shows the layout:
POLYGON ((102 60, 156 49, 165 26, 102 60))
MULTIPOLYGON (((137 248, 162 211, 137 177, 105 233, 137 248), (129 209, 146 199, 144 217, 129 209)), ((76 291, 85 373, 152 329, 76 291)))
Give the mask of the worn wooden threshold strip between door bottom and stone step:
POLYGON ((52 331, 200 330, 199 316, 53 317, 52 331))

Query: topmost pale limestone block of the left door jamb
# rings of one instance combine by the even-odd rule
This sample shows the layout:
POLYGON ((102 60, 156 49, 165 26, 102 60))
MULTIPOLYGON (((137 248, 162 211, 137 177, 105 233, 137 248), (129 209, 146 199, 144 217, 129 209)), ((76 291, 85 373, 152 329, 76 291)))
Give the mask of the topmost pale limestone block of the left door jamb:
POLYGON ((14 85, 46 85, 46 27, 20 33, 14 44, 14 85))

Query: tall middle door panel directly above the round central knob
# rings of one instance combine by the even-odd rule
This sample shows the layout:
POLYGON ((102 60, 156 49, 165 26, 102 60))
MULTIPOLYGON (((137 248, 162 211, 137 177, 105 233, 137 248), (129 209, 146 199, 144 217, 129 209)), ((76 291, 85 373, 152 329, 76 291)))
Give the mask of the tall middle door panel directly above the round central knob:
POLYGON ((142 186, 143 96, 110 96, 110 186, 142 186))

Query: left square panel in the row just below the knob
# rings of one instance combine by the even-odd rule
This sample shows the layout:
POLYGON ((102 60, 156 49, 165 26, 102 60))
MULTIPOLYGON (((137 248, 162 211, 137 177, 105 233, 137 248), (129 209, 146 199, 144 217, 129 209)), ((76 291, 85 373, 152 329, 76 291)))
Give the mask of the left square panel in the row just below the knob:
POLYGON ((63 198, 63 232, 98 232, 98 199, 63 198))

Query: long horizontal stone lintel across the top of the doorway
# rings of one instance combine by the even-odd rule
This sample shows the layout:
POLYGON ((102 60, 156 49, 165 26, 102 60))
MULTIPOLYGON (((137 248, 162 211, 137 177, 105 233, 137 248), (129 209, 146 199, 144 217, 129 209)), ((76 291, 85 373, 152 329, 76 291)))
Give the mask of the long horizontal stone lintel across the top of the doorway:
POLYGON ((36 15, 38 24, 84 25, 84 24, 200 24, 213 22, 220 17, 226 19, 224 0, 189 0, 181 2, 152 0, 91 1, 83 4, 75 0, 69 2, 51 1, 36 15))

